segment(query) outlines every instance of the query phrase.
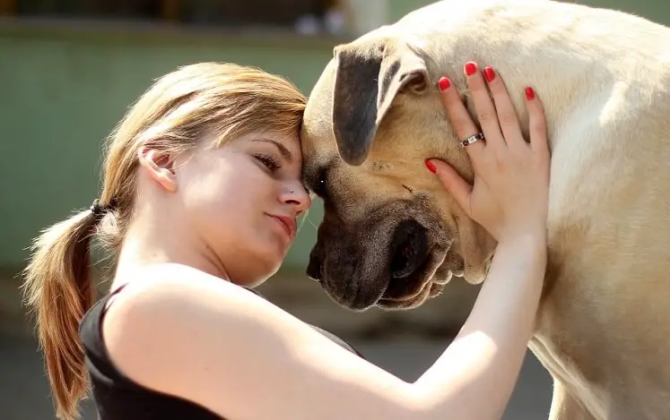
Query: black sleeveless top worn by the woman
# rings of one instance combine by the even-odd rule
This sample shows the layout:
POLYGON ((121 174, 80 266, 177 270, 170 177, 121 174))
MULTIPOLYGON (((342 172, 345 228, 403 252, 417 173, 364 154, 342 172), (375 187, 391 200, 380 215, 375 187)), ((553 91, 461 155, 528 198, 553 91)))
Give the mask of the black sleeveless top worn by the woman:
MULTIPOLYGON (((84 315, 79 325, 79 337, 83 342, 85 363, 91 378, 92 398, 98 409, 99 420, 225 420, 186 399, 149 390, 126 378, 111 363, 102 339, 102 320, 109 298, 121 289, 123 286, 103 296, 84 315)), ((260 296, 255 290, 247 290, 260 296)), ((344 340, 326 330, 310 326, 361 356, 344 340)))

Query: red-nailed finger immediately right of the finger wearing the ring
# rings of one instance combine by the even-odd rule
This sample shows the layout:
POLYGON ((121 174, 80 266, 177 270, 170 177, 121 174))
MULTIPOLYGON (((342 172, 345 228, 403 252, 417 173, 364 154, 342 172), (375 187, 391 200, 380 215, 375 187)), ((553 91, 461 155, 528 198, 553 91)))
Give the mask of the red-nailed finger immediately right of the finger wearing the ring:
POLYGON ((464 68, 466 73, 467 86, 470 88, 474 101, 474 109, 479 119, 479 125, 486 138, 486 144, 492 147, 500 148, 505 145, 505 139, 500 132, 498 115, 486 88, 481 72, 477 71, 477 64, 473 62, 466 63, 464 68))

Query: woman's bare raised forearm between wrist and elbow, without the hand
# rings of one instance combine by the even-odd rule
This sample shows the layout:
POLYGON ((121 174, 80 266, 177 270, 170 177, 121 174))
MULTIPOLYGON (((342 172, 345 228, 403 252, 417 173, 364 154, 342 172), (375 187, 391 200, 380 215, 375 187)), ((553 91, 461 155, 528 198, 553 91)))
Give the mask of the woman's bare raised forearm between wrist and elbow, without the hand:
MULTIPOLYGON (((534 327, 545 244, 542 233, 500 242, 457 338, 415 382, 424 400, 442 410, 442 419, 503 415, 534 327)), ((439 418, 435 414, 427 418, 439 418)))

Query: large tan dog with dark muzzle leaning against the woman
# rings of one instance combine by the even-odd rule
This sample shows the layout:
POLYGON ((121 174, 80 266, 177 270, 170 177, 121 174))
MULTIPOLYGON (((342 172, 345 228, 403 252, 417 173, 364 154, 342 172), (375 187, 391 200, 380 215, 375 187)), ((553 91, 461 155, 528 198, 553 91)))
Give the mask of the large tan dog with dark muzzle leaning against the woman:
MULTIPOLYGON (((532 1, 444 1, 335 48, 302 132, 325 201, 309 276, 353 310, 411 308, 483 281, 494 242, 423 165, 472 176, 436 82, 494 66, 527 130, 535 87, 553 150, 550 262, 530 343, 553 419, 670 419, 670 30, 532 1)), ((527 133, 527 131, 526 131, 527 133)), ((485 403, 485 401, 483 401, 485 403)))

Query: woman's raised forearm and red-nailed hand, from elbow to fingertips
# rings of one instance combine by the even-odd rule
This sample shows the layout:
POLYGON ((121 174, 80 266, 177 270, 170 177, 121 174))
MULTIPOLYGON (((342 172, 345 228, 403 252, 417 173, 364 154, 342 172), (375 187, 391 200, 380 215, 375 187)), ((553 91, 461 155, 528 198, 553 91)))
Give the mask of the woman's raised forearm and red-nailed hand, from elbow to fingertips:
MULTIPOLYGON (((546 267, 550 156, 544 110, 532 88, 526 88, 527 143, 500 75, 491 68, 483 73, 488 83, 480 73, 467 80, 486 138, 466 147, 474 185, 445 163, 432 161, 461 208, 499 242, 473 312, 457 339, 417 381, 431 399, 448 400, 453 389, 440 387, 444 382, 439 375, 457 374, 451 378, 459 383, 460 404, 450 411, 454 418, 502 416, 526 355, 546 267)), ((477 133, 457 91, 448 81, 439 85, 447 87, 442 100, 458 138, 477 133)))

